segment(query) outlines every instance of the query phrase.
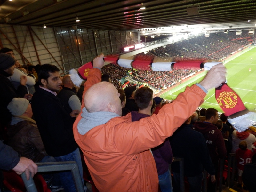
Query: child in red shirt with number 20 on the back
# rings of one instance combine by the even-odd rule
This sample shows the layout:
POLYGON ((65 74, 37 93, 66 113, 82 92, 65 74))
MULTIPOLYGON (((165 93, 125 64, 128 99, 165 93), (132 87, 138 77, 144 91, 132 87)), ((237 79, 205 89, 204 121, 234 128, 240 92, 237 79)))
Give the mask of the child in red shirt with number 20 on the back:
MULTIPOLYGON (((236 150, 237 170, 238 170, 238 187, 242 188, 242 174, 244 171, 244 164, 252 162, 252 156, 256 153, 255 144, 252 146, 252 150, 247 149, 247 142, 241 141, 239 143, 239 149, 236 150)), ((245 189, 245 187, 244 187, 245 189)))

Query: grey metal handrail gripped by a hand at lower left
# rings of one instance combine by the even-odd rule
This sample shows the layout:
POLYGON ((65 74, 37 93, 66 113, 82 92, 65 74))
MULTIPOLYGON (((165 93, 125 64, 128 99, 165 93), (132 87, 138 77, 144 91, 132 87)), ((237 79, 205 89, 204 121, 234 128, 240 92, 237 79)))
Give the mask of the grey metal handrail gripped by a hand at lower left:
MULTIPOLYGON (((49 163, 36 163, 38 166, 37 172, 53 172, 53 171, 71 171, 73 180, 75 182, 76 191, 84 192, 84 186, 81 180, 78 165, 75 161, 66 162, 49 162, 49 163)), ((30 175, 29 180, 26 178, 25 172, 21 174, 21 178, 25 184, 27 192, 37 192, 35 182, 30 175)))

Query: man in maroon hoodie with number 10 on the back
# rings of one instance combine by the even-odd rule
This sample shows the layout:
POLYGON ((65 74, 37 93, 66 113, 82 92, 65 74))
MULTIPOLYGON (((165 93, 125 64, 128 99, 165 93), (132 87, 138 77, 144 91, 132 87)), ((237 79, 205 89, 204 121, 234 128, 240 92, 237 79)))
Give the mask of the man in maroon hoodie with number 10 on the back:
MULTIPOLYGON (((214 108, 208 108, 205 111, 205 121, 195 122, 193 128, 204 135, 204 139, 206 141, 216 173, 218 172, 217 170, 219 158, 223 159, 227 154, 222 133, 215 125, 213 125, 218 121, 218 119, 218 111, 214 108)), ((215 191, 215 185, 212 185, 210 182, 208 185, 208 191, 215 191)))

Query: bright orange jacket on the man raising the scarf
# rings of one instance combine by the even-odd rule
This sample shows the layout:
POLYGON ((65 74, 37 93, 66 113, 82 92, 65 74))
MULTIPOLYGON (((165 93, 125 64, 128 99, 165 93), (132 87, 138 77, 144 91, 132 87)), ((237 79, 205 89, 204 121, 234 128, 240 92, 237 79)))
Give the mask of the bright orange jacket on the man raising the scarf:
POLYGON ((79 115, 73 126, 74 137, 99 191, 158 191, 156 165, 148 149, 171 136, 203 102, 204 96, 205 92, 193 85, 172 104, 165 105, 158 115, 135 122, 131 122, 131 114, 115 117, 84 135, 77 130, 82 118, 79 115))

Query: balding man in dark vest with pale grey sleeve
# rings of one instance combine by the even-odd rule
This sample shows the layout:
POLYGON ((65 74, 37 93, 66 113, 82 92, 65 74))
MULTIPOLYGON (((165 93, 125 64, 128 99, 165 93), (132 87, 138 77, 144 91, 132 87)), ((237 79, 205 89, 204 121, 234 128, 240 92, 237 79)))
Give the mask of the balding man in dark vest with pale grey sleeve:
POLYGON ((73 92, 74 84, 70 79, 70 75, 65 75, 62 79, 63 88, 58 93, 57 97, 60 98, 64 108, 68 113, 71 113, 74 110, 81 110, 81 100, 73 92))

